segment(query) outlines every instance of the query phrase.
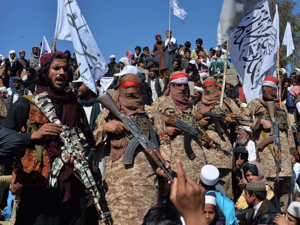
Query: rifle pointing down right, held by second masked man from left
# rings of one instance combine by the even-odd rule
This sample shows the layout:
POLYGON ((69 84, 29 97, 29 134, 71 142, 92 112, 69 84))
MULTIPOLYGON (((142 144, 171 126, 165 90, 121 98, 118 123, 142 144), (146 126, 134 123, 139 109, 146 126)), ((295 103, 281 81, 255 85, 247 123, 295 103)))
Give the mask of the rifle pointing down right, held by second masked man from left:
POLYGON ((184 140, 183 140, 183 146, 184 150, 187 154, 187 157, 190 160, 193 160, 196 156, 195 153, 192 150, 191 147, 191 141, 192 141, 192 136, 204 141, 205 143, 209 144, 213 142, 216 145, 216 148, 219 149, 224 153, 226 156, 231 156, 230 151, 226 151, 225 149, 221 148, 221 145, 217 142, 214 141, 211 137, 209 137, 207 134, 204 134, 203 131, 200 131, 196 128, 191 127, 190 125, 184 123, 180 119, 172 119, 170 117, 165 116, 164 114, 161 113, 161 116, 163 117, 166 125, 170 125, 172 127, 177 127, 183 131, 184 135, 184 140))

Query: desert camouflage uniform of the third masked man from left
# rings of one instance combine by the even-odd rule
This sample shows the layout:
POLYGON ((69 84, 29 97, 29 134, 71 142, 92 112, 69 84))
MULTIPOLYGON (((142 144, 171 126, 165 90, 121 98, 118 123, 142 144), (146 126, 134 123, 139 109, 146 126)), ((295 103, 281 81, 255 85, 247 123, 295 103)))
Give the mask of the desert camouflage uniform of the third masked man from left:
MULTIPOLYGON (((223 104, 223 108, 220 108, 220 102, 217 102, 215 107, 210 110, 208 113, 236 113, 239 111, 237 105, 235 102, 230 98, 225 98, 224 102, 228 102, 231 106, 231 108, 223 104)), ((200 114, 200 109, 202 106, 202 102, 200 101, 198 104, 196 104, 194 111, 197 114, 200 114)), ((232 143, 230 140, 232 139, 232 131, 228 130, 227 125, 224 122, 220 121, 220 125, 222 126, 223 130, 225 131, 223 135, 218 134, 215 131, 214 123, 211 123, 208 125, 208 128, 206 129, 206 133, 209 137, 217 140, 218 143, 220 143, 221 147, 225 149, 226 151, 231 151, 232 156, 226 156, 223 152, 217 151, 214 149, 207 149, 203 148, 205 158, 208 164, 212 164, 215 167, 218 168, 220 172, 220 181, 223 183, 224 188, 226 190, 226 196, 230 199, 233 199, 233 190, 232 190, 232 160, 233 160, 233 148, 232 143)))

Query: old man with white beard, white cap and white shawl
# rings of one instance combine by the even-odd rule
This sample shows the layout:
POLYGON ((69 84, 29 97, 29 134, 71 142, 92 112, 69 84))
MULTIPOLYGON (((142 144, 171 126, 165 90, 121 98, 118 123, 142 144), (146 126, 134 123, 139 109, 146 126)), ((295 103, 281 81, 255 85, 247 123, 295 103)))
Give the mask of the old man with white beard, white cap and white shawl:
POLYGON ((248 153, 248 161, 256 161, 255 144, 250 140, 252 133, 253 131, 250 129, 250 127, 238 126, 236 142, 233 144, 234 149, 238 146, 246 148, 246 152, 244 153, 248 153))

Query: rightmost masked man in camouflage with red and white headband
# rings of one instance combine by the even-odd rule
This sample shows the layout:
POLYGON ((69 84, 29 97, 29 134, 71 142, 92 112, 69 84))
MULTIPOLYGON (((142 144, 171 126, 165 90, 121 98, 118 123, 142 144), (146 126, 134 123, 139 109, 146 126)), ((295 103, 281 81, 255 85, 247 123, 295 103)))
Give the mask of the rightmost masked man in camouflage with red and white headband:
MULTIPOLYGON (((275 120, 279 125, 281 143, 281 172, 279 176, 283 179, 282 181, 274 181, 276 177, 274 158, 268 147, 266 146, 259 152, 256 149, 256 152, 257 161, 262 165, 265 176, 270 181, 272 188, 274 189, 275 187, 276 189, 281 211, 286 212, 292 176, 291 161, 295 161, 296 147, 286 106, 282 104, 280 108, 279 98, 277 96, 278 84, 279 80, 274 76, 267 76, 263 80, 262 98, 252 100, 241 114, 244 119, 253 119, 253 122, 239 122, 239 124, 255 129, 253 136, 257 148, 265 137, 271 136, 271 120, 265 102, 275 102, 275 120), (253 116, 255 118, 253 118, 253 116)), ((273 143, 271 143, 270 146, 271 149, 273 149, 273 143)))

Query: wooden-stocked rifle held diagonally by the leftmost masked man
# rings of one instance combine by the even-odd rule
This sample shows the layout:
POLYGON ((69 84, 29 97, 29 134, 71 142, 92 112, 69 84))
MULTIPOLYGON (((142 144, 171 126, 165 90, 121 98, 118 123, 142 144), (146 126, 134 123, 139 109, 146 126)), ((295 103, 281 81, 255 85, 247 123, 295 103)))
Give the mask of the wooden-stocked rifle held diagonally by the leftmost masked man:
MULTIPOLYGON (((100 97, 98 97, 97 101, 101 103, 101 105, 103 105, 105 108, 107 108, 107 110, 113 113, 119 120, 121 120, 131 132, 130 143, 134 143, 132 145, 134 148, 133 150, 129 149, 128 151, 126 151, 128 149, 126 148, 125 150, 126 154, 124 153, 124 157, 123 157, 123 164, 132 164, 132 156, 134 153, 134 149, 137 145, 140 144, 145 149, 146 153, 152 158, 155 164, 159 168, 164 170, 164 173, 167 175, 167 179, 173 184, 172 171, 170 168, 168 169, 166 168, 167 163, 164 160, 164 158, 161 156, 158 146, 156 146, 154 143, 155 137, 152 137, 151 138, 152 140, 149 140, 148 137, 144 134, 142 129, 139 127, 139 125, 133 118, 126 117, 123 113, 120 112, 116 103, 113 101, 113 98, 107 92, 105 92, 100 97)), ((152 124, 150 122, 149 129, 151 128, 152 128, 152 124)))

